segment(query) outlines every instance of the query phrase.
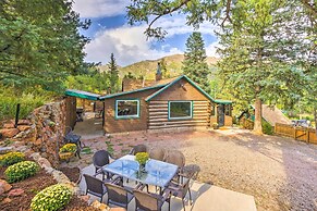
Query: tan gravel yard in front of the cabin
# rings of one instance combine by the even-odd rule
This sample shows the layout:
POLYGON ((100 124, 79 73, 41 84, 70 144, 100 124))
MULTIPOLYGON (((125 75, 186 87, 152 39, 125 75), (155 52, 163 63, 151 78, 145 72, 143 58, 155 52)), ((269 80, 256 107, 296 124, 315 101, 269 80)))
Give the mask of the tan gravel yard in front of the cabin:
MULTIPOLYGON (((317 210, 317 146, 244 129, 130 133, 84 140, 94 151, 126 153, 132 146, 181 150, 200 167, 198 181, 253 195, 261 210, 317 210)), ((92 154, 74 165, 87 165, 92 154)), ((71 163, 69 163, 71 164, 71 163)))

